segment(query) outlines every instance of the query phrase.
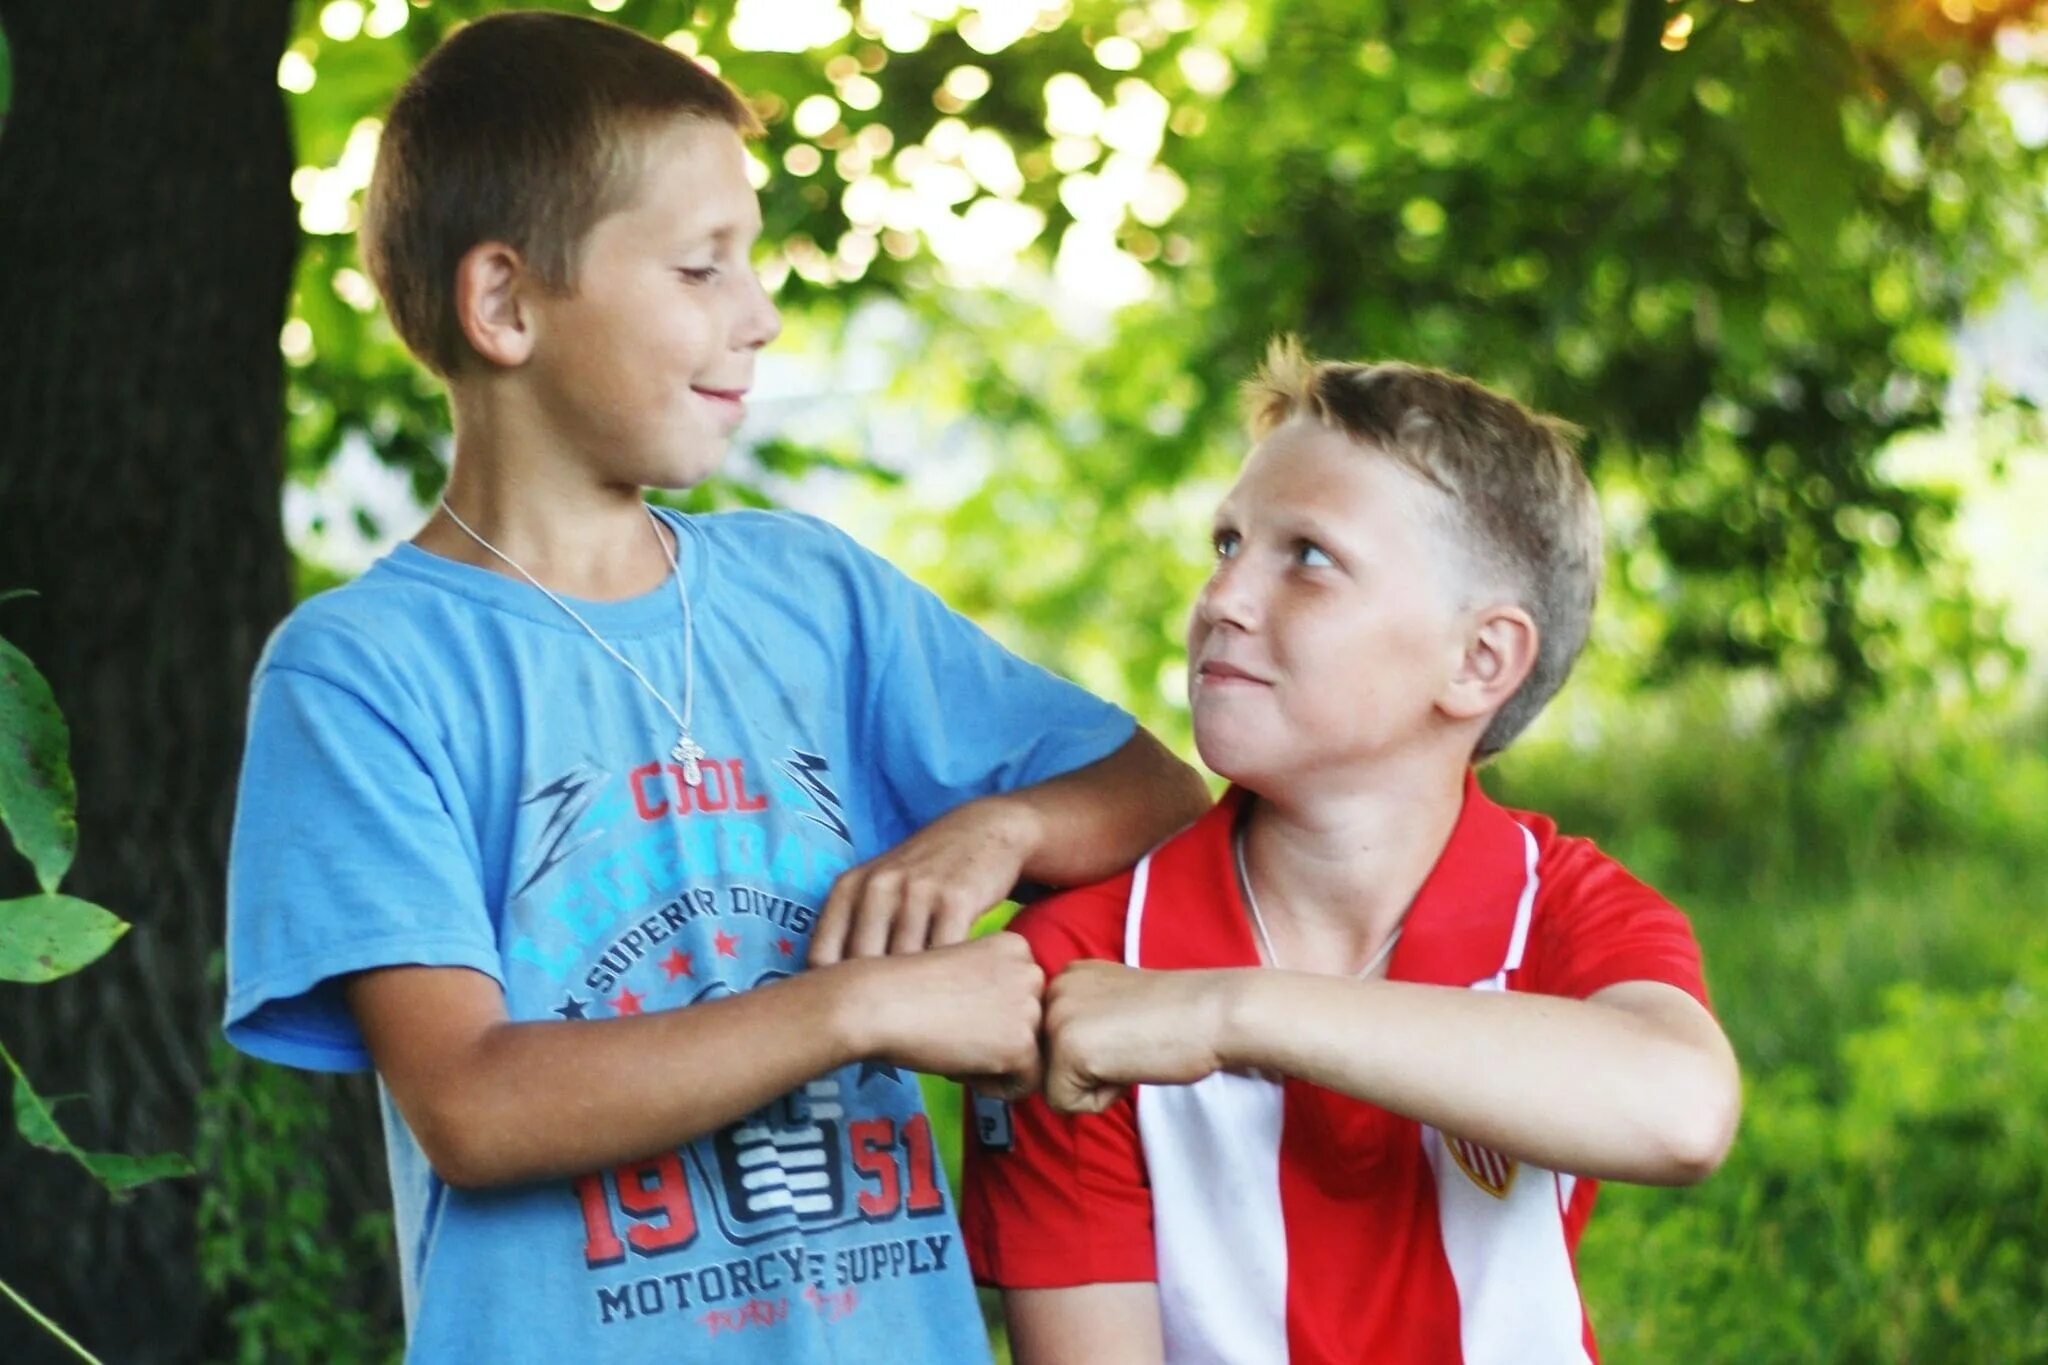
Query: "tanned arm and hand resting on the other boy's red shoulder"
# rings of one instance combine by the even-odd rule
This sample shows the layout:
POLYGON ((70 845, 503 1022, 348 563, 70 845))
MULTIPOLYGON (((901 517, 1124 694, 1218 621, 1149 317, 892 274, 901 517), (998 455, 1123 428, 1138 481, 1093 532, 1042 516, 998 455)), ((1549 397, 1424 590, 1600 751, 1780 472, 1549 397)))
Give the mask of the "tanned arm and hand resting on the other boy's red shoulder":
POLYGON ((1139 731, 1087 767, 971 800, 846 872, 811 931, 811 962, 958 943, 1020 880, 1098 882, 1206 808, 1196 772, 1139 731))

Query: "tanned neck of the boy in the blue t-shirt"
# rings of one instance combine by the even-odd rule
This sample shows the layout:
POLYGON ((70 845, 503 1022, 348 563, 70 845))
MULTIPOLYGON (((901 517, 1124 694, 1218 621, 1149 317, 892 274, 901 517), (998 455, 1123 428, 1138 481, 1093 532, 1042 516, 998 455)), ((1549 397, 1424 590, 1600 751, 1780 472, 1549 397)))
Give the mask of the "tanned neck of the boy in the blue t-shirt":
MULTIPOLYGON (((580 463, 561 458, 559 446, 520 438, 506 430, 514 424, 494 424, 487 413, 461 407, 455 469, 442 497, 475 534, 565 598, 616 602, 668 579, 674 544, 668 530, 657 536, 649 524, 639 487, 604 483, 580 463)), ((414 544, 524 581, 442 508, 414 544)))

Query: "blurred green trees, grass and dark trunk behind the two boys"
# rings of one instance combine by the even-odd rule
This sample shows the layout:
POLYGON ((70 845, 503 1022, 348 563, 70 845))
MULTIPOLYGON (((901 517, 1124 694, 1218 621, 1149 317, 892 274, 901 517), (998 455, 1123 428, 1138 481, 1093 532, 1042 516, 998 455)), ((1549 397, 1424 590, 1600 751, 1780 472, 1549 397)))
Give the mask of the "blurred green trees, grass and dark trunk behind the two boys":
MULTIPOLYGON (((397 1349, 367 1083, 215 1042, 221 868, 266 632, 442 479, 352 229, 496 8, 0 0, 0 636, 137 925, 0 1040, 80 1146, 197 1162, 117 1205, 0 1136, 0 1279, 111 1361, 397 1349)), ((1710 1183, 1604 1195, 1606 1359, 2048 1359, 2048 6, 555 8, 768 127, 786 336, 686 503, 838 520, 1184 753, 1272 334, 1583 426, 1602 616, 1487 782, 1694 915, 1749 1091, 1710 1183)))

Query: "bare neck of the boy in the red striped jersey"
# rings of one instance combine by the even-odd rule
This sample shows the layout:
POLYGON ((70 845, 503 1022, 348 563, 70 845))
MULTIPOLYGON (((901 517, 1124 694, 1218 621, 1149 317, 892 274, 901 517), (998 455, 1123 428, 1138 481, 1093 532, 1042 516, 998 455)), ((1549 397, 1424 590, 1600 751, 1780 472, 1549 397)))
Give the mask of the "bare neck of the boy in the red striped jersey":
POLYGON ((1245 862, 1284 966, 1370 960, 1450 843, 1464 763, 1374 778, 1309 798, 1260 796, 1247 817, 1245 862))

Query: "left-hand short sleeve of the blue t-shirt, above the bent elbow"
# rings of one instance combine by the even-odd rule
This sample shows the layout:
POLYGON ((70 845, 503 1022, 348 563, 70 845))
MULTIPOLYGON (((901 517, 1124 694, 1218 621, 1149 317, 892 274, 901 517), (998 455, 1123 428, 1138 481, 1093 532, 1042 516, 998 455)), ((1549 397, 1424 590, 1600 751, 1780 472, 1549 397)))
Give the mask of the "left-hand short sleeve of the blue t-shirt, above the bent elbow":
POLYGON ((365 1070, 340 978, 401 964, 502 980, 479 860, 391 716, 338 681, 266 665, 227 862, 227 1042, 365 1070))

